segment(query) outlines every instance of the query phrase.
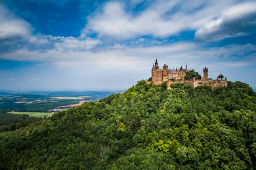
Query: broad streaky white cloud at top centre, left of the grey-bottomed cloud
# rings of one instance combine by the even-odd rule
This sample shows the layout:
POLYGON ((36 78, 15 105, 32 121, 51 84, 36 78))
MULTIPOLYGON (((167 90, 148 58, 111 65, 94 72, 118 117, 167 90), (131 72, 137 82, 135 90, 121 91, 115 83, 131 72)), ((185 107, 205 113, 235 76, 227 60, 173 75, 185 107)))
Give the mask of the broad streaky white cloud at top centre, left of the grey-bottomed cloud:
MULTIPOLYGON (((251 2, 253 4, 253 2, 251 2)), ((100 7, 93 15, 90 15, 81 32, 82 36, 90 32, 97 32, 99 36, 110 36, 116 39, 129 39, 143 35, 154 37, 169 37, 177 35, 181 31, 199 30, 209 23, 207 27, 220 24, 220 20, 214 20, 220 16, 233 16, 238 8, 237 15, 245 16, 253 12, 253 7, 248 10, 246 5, 234 5, 233 0, 215 1, 162 1, 158 0, 145 10, 133 13, 126 10, 120 2, 108 2, 100 7), (214 20, 214 21, 212 21, 214 20)), ((248 2, 249 4, 249 2, 248 2)))

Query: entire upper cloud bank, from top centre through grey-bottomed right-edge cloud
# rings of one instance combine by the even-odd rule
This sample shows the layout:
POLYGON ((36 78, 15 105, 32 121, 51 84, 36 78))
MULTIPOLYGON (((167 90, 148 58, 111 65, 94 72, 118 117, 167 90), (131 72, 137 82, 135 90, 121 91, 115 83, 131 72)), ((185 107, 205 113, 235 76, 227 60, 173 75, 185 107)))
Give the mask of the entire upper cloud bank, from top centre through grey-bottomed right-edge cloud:
POLYGON ((164 38, 196 30, 198 38, 217 33, 218 38, 212 40, 219 40, 223 35, 223 38, 244 35, 241 30, 255 28, 255 6, 256 2, 235 4, 232 0, 158 0, 140 13, 133 13, 125 3, 108 2, 88 17, 81 35, 97 32, 101 37, 116 39, 145 35, 164 38))

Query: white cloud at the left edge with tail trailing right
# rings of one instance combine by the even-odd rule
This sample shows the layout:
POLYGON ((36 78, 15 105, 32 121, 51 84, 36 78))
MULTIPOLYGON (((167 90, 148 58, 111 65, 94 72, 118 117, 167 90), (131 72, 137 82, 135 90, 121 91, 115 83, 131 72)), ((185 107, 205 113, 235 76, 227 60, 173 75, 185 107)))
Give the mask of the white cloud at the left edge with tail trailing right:
POLYGON ((95 45, 102 44, 97 38, 76 38, 52 35, 32 34, 33 28, 25 20, 10 13, 0 5, 0 48, 6 52, 23 50, 38 50, 47 53, 55 48, 60 51, 89 50, 95 45), (18 40, 18 41, 17 41, 18 40))

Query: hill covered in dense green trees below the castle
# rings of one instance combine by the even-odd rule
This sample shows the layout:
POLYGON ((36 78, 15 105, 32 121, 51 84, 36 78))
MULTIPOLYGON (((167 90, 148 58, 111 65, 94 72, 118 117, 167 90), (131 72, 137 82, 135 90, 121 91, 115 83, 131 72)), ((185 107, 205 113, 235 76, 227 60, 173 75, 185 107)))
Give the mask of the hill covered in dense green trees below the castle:
POLYGON ((5 125, 0 169, 256 169, 251 87, 172 87, 142 80, 50 118, 5 125))

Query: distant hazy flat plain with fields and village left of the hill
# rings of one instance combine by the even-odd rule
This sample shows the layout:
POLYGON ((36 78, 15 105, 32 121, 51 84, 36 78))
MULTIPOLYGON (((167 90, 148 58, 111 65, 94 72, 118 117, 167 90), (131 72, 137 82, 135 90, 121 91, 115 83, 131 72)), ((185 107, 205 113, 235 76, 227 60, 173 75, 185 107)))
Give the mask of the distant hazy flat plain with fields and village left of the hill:
POLYGON ((0 91, 0 110, 49 112, 59 106, 93 102, 121 91, 0 91))

